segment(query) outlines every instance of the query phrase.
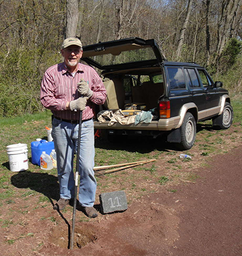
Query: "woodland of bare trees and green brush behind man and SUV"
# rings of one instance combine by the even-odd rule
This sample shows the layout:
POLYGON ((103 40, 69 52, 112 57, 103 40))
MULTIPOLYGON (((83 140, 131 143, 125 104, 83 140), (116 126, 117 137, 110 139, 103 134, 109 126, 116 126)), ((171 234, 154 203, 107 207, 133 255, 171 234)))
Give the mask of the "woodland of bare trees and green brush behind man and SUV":
POLYGON ((196 62, 242 91, 242 0, 0 0, 0 117, 33 114, 42 76, 68 36, 83 45, 155 39, 168 61, 196 62))

